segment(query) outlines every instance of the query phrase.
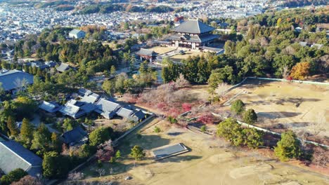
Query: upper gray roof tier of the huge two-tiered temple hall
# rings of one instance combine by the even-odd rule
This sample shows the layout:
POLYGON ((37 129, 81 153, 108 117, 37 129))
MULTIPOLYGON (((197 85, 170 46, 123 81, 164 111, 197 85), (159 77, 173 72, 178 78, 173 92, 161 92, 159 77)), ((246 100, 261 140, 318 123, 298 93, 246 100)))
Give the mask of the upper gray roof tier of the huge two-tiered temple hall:
POLYGON ((183 33, 191 33, 191 34, 202 34, 205 32, 212 32, 214 27, 210 27, 200 20, 188 20, 186 22, 181 23, 178 27, 172 29, 174 32, 183 32, 183 33))

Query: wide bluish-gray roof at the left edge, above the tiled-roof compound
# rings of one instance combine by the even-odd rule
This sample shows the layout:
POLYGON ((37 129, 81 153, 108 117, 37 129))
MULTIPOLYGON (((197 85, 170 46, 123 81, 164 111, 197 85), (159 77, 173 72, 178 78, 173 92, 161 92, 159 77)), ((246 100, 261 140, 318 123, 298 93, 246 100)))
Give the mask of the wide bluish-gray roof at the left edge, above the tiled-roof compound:
POLYGON ((0 73, 0 83, 4 90, 13 90, 21 88, 22 83, 32 84, 33 75, 19 70, 11 70, 0 73))

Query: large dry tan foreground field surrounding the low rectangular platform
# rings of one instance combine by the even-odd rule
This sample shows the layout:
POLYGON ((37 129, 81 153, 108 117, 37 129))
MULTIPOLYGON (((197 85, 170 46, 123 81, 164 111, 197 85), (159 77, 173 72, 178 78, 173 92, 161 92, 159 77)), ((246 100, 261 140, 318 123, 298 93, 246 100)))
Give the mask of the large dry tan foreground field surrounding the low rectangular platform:
MULTIPOLYGON (((155 119, 141 130, 141 137, 130 135, 119 147, 122 159, 115 164, 104 163, 105 176, 98 177, 96 165, 86 167, 84 181, 115 181, 115 184, 328 184, 322 174, 309 172, 295 165, 280 163, 257 151, 228 148, 217 137, 178 128, 155 119), (162 131, 155 133, 155 125, 162 131), (191 151, 160 161, 150 152, 159 146, 183 143, 191 151), (137 161, 128 153, 134 145, 143 147, 146 159, 137 161), (111 170, 112 169, 112 170, 111 170), (112 171, 112 174, 110 173, 112 171), (124 181, 124 177, 132 179, 124 181)), ((211 126, 209 129, 214 128, 211 126)))

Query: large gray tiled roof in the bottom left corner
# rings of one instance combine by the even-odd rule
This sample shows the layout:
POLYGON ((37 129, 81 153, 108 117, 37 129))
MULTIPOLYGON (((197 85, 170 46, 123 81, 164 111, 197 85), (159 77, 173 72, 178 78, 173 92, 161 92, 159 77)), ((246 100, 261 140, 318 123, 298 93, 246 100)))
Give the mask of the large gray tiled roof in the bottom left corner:
POLYGON ((0 168, 6 174, 22 168, 32 176, 41 174, 42 159, 14 141, 0 141, 0 168))

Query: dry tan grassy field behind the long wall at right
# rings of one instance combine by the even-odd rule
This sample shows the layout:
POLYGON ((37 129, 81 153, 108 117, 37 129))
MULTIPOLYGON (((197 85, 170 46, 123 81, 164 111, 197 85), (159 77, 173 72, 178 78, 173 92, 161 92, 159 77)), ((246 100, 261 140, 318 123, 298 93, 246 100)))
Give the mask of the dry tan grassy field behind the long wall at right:
POLYGON ((247 109, 257 112, 257 125, 266 128, 289 128, 302 134, 329 135, 329 86, 275 81, 247 80, 231 90, 228 97, 239 94, 247 109))

